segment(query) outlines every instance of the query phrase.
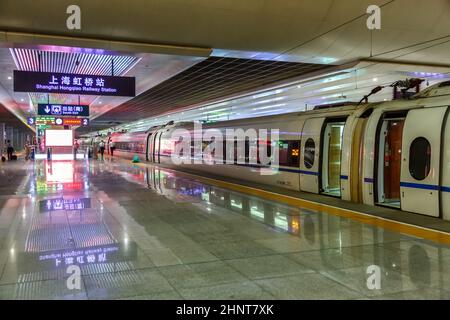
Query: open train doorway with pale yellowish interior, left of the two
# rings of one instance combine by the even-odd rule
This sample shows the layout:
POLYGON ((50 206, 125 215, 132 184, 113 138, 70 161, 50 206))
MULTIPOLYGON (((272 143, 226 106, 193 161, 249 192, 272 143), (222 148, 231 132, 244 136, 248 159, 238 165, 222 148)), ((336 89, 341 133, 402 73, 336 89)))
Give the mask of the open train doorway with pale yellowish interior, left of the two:
POLYGON ((345 122, 328 122, 323 135, 322 193, 341 196, 341 154, 345 122))

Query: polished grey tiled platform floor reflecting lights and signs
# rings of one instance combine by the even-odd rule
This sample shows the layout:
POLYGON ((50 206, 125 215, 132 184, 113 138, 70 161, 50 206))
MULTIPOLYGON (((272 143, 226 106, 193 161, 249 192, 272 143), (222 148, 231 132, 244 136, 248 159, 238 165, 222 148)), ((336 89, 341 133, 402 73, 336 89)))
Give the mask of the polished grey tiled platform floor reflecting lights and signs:
POLYGON ((448 246, 150 165, 3 163, 0 210, 0 299, 450 298, 448 246))

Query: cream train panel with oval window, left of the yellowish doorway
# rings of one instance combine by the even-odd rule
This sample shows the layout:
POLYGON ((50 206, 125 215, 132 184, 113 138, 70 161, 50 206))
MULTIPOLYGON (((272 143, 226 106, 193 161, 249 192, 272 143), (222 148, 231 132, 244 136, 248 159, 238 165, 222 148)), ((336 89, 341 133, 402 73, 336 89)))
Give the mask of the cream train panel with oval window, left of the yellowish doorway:
POLYGON ((300 159, 300 190, 319 193, 320 139, 325 118, 305 121, 300 159))

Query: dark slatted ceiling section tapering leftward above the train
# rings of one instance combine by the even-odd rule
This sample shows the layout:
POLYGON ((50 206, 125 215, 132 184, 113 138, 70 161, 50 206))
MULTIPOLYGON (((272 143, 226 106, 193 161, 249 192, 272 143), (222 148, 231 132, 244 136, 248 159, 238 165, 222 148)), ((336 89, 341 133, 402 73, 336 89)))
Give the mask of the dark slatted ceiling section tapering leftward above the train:
POLYGON ((321 64, 210 57, 94 119, 91 129, 159 116, 326 67, 321 64))

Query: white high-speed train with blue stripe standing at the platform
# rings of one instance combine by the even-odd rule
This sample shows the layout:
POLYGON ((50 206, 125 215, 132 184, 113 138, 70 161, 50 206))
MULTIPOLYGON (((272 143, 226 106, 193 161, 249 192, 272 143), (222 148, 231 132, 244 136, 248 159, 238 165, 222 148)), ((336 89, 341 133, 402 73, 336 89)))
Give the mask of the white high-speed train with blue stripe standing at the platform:
MULTIPOLYGON (((267 167, 249 161, 247 141, 244 152, 234 150, 244 157, 235 156, 232 164, 180 166, 450 220, 449 105, 447 81, 409 99, 203 124, 203 130, 221 132, 279 129, 278 170, 261 174, 267 167)), ((170 122, 146 132, 114 133, 106 138, 107 146, 114 141, 118 156, 138 154, 143 161, 172 164, 176 129, 192 132, 193 124, 170 122)), ((203 146, 211 142, 202 140, 203 146)), ((273 141, 258 137, 255 143, 273 141)), ((193 159, 201 157, 195 152, 192 148, 193 159)))

